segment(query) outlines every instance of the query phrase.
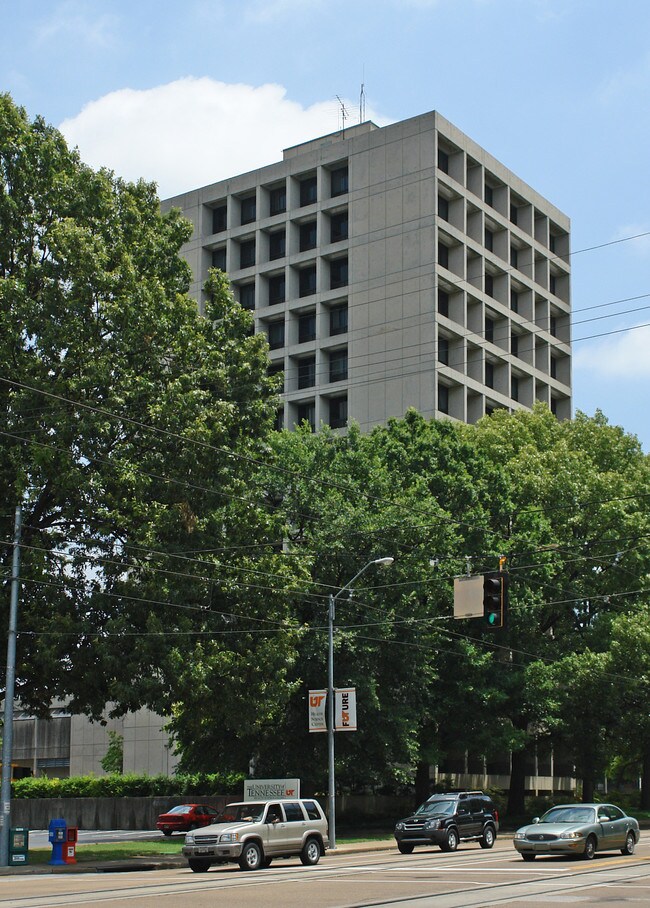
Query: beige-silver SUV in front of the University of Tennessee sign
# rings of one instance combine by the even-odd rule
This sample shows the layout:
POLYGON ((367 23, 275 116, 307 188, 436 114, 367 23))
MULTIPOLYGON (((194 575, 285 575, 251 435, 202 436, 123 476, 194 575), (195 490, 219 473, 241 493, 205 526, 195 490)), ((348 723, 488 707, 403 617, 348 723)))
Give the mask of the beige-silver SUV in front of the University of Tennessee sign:
POLYGON ((185 836, 183 854, 195 873, 237 862, 242 870, 268 867, 273 858, 300 855, 318 864, 329 846, 327 819, 311 798, 228 804, 211 826, 185 836))

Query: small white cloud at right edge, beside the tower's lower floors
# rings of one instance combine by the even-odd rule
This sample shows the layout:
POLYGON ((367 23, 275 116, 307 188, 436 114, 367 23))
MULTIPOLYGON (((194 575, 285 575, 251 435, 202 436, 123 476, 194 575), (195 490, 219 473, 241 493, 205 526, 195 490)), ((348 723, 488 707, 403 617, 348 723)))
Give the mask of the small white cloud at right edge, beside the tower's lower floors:
POLYGON ((621 334, 576 347, 574 369, 617 379, 650 378, 650 325, 631 325, 621 334))

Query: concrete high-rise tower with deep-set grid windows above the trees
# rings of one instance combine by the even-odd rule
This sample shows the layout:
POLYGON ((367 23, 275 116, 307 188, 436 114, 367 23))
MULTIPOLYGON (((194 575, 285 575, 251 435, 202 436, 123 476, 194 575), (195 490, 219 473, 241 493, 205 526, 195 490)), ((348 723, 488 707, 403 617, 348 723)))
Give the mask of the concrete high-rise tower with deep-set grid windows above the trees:
POLYGON ((194 224, 199 306, 221 268, 268 336, 278 425, 571 415, 569 220, 438 113, 305 142, 172 206, 194 224))

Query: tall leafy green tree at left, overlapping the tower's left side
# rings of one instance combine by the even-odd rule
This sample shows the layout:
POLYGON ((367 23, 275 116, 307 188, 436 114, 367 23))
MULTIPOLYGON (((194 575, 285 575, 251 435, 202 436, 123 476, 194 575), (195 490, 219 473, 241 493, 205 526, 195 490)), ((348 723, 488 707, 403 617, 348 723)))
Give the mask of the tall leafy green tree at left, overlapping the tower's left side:
POLYGON ((279 534, 251 491, 277 405, 267 347, 220 273, 198 311, 190 233, 152 184, 91 170, 0 97, 0 559, 6 577, 21 502, 33 709, 169 715, 196 641, 268 620, 279 534))

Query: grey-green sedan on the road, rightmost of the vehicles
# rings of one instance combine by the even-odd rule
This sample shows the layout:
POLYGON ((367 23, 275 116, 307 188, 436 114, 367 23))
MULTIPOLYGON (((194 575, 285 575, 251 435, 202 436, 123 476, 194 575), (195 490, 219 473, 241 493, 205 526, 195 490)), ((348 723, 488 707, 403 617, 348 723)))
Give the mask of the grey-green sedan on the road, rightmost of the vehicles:
POLYGON ((538 854, 572 854, 591 860, 597 851, 634 854, 639 824, 613 804, 560 804, 515 833, 524 861, 538 854))

